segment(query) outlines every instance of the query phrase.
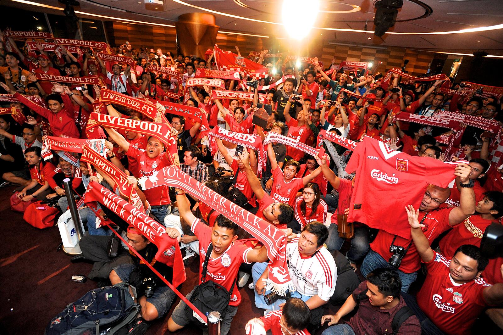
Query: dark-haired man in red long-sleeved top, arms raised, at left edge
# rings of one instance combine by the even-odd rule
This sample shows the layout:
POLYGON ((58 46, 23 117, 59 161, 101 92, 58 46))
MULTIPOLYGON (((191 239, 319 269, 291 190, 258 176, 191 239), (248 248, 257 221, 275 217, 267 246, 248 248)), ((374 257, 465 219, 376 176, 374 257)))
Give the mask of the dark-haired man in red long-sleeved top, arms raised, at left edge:
POLYGON ((43 108, 31 100, 25 98, 23 95, 11 90, 5 83, 0 82, 0 86, 9 94, 14 95, 23 105, 31 108, 35 113, 43 116, 49 120, 49 125, 51 126, 52 133, 54 136, 65 135, 68 137, 79 138, 77 126, 75 125, 75 119, 73 117, 73 108, 68 98, 68 95, 64 93, 64 89, 59 83, 54 83, 54 91, 59 94, 50 94, 47 97, 47 105, 49 109, 43 108))

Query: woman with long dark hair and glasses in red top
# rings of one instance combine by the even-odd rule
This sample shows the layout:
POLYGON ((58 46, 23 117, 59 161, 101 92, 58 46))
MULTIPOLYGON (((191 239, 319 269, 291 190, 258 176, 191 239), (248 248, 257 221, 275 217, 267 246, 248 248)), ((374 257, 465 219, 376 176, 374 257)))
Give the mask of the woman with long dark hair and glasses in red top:
POLYGON ((326 203, 321 199, 318 184, 308 183, 304 187, 302 196, 295 199, 294 210, 295 219, 300 224, 300 230, 309 222, 325 222, 327 207, 326 203))

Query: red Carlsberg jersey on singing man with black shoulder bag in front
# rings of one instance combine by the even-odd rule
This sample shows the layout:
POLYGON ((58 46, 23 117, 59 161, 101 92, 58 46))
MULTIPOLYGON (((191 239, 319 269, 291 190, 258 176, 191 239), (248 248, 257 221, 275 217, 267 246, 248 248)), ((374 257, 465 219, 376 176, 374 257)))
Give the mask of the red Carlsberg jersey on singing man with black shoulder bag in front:
MULTIPOLYGON (((211 243, 212 228, 208 227, 196 218, 191 224, 191 230, 196 234, 199 240, 199 284, 201 284, 201 273, 203 271, 203 263, 206 257, 206 250, 211 243)), ((237 272, 241 263, 251 264, 247 261, 246 255, 251 250, 240 241, 235 241, 229 245, 227 250, 217 258, 211 258, 208 261, 208 270, 206 280, 212 280, 217 284, 230 290, 232 284, 236 281, 237 272)), ((237 306, 241 302, 241 295, 237 285, 231 292, 229 305, 237 306)))

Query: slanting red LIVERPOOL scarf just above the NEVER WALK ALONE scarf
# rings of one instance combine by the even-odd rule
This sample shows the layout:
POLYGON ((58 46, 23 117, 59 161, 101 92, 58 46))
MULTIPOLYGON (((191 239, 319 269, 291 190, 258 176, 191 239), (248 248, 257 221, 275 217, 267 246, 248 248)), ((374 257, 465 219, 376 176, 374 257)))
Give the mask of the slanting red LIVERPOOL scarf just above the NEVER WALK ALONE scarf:
POLYGON ((142 213, 145 213, 145 208, 143 207, 140 196, 132 185, 127 184, 126 174, 123 173, 117 166, 112 164, 102 155, 99 155, 87 145, 82 148, 82 156, 80 157, 80 160, 94 165, 96 171, 98 171, 101 175, 110 177, 115 182, 119 193, 123 197, 129 199, 129 203, 134 208, 142 213))

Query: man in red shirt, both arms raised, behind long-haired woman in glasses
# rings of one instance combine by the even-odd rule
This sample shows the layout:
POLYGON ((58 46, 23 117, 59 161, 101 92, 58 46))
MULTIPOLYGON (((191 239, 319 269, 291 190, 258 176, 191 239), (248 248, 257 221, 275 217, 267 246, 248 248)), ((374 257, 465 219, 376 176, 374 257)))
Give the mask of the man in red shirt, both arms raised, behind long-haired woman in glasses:
POLYGON ((321 168, 318 166, 318 168, 312 173, 302 178, 295 178, 295 175, 300 169, 298 161, 290 159, 285 163, 283 171, 281 171, 278 162, 276 161, 276 154, 274 153, 272 144, 267 146, 267 154, 269 156, 269 160, 271 161, 271 171, 273 173, 272 178, 274 178, 273 186, 271 188, 271 196, 275 202, 284 202, 285 204, 293 206, 297 192, 300 188, 306 186, 307 183, 318 177, 321 173, 321 168))

